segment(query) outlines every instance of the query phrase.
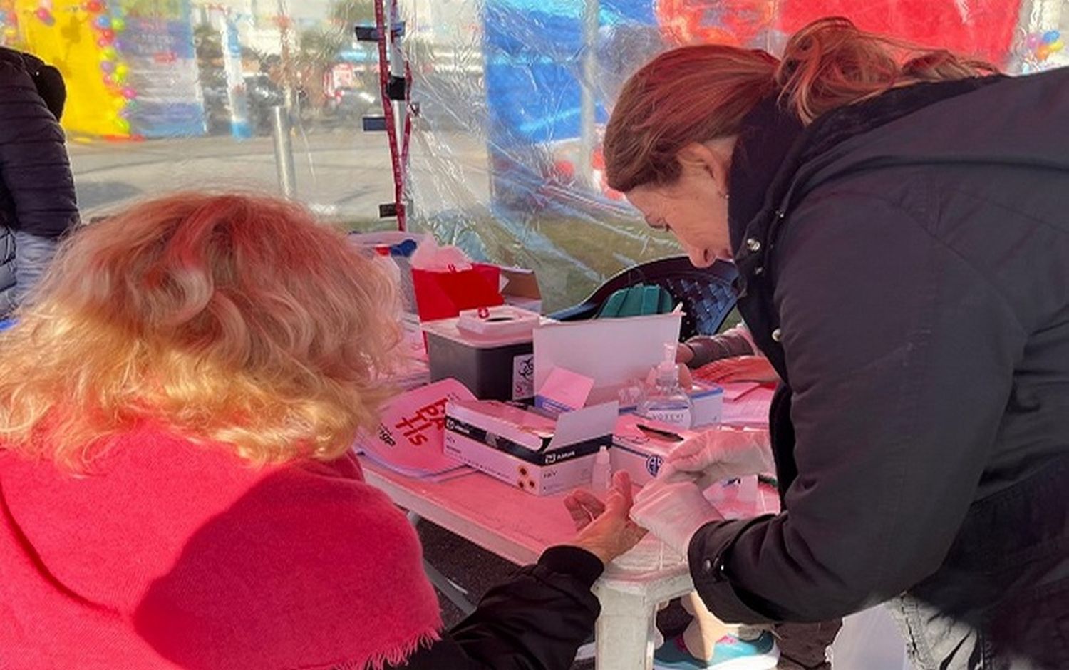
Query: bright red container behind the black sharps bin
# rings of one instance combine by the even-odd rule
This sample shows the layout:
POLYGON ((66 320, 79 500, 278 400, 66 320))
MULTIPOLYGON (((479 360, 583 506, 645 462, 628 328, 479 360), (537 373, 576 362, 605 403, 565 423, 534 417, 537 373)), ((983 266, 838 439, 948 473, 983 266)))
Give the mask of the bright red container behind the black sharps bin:
POLYGON ((471 269, 438 272, 413 268, 416 307, 420 321, 451 318, 461 310, 503 305, 501 270, 496 265, 472 263, 471 269))

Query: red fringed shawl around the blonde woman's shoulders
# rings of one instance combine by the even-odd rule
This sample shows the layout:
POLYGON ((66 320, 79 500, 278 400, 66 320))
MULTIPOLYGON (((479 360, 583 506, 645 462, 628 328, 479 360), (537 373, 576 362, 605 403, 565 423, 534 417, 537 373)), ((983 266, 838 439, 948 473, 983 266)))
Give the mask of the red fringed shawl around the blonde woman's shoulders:
POLYGON ((437 637, 416 533, 352 457, 254 469, 145 427, 96 470, 0 452, 4 670, 362 670, 437 637))

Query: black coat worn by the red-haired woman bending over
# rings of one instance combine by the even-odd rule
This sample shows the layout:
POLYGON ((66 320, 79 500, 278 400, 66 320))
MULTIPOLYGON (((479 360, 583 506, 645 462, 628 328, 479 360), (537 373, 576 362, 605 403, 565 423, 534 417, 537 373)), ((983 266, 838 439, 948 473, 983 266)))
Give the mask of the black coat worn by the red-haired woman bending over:
POLYGON ((898 598, 919 668, 1069 668, 1069 71, 896 90, 735 150, 784 512, 711 524, 730 621, 898 598))

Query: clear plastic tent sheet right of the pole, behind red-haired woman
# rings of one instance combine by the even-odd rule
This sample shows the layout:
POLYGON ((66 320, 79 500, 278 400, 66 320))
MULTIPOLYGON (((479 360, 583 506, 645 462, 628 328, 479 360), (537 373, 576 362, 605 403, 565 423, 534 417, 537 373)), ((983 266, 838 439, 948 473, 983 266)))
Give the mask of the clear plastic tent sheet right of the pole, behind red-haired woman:
POLYGON ((538 270, 551 307, 679 253, 602 176, 626 77, 716 42, 778 52, 812 19, 975 53, 1009 71, 1060 63, 1062 2, 1007 0, 402 0, 420 115, 414 218, 474 253, 538 270))

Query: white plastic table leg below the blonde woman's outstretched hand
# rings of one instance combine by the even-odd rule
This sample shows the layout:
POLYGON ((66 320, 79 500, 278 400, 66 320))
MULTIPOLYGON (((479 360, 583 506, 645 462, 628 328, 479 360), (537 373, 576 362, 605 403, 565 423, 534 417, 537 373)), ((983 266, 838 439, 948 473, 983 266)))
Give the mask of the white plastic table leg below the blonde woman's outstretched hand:
POLYGON ((640 593, 599 583, 594 593, 602 612, 594 628, 597 670, 651 670, 655 604, 640 593))

